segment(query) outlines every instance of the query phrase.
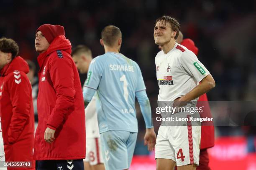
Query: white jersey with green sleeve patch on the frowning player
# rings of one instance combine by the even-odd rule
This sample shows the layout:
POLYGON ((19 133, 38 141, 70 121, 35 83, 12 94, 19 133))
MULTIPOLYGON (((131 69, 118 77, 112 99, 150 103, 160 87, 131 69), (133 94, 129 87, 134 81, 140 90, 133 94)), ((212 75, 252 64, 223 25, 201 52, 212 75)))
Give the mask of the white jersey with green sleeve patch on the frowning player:
POLYGON ((210 74, 192 51, 178 43, 167 54, 158 52, 155 63, 159 101, 174 101, 186 95, 210 74))

